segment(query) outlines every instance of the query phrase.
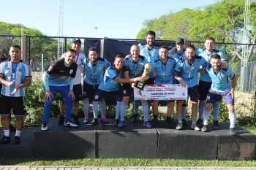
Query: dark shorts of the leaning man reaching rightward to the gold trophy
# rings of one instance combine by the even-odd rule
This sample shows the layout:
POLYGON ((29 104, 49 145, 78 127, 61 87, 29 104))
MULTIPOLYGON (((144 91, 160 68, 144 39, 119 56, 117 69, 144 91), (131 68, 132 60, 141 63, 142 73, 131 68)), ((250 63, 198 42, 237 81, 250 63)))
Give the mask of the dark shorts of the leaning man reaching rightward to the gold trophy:
POLYGON ((104 91, 99 88, 96 90, 94 99, 92 101, 101 101, 102 98, 113 98, 116 101, 122 101, 120 90, 116 91, 104 91))

